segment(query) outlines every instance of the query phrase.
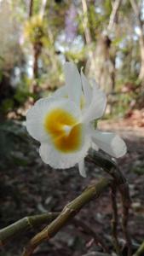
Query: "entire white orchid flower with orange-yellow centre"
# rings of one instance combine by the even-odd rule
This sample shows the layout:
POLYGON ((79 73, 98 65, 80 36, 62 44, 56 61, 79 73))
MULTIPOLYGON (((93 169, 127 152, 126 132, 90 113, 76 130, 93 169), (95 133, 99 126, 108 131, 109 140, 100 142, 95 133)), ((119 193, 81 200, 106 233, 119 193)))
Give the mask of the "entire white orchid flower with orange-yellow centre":
POLYGON ((84 157, 89 148, 118 158, 126 153, 126 145, 118 135, 95 129, 95 119, 106 109, 106 94, 94 81, 91 86, 72 62, 66 62, 64 72, 66 85, 34 104, 26 114, 26 128, 41 143, 43 162, 56 169, 78 164, 86 177, 84 157))

